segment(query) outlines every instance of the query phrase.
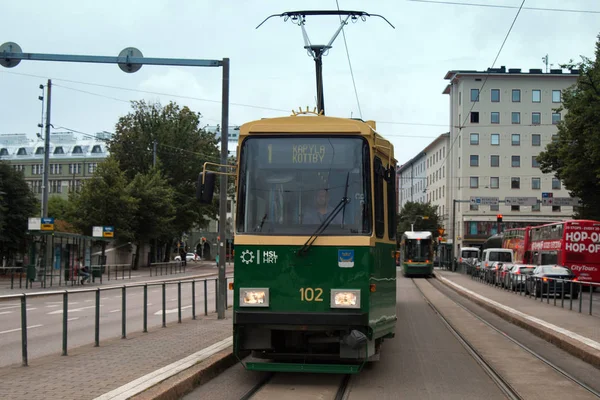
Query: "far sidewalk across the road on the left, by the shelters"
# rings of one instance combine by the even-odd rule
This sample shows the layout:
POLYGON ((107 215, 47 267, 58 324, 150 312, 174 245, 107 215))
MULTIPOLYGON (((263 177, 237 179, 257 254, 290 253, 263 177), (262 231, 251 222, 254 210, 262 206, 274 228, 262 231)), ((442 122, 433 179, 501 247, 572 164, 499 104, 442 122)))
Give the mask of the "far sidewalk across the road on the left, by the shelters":
MULTIPOLYGON (((226 273, 233 272, 233 263, 228 263, 227 268, 225 269, 226 273)), ((95 282, 85 283, 85 285, 62 285, 58 286, 57 284, 53 286, 49 286, 46 288, 40 287, 40 282, 35 281, 33 283, 33 288, 25 289, 25 280, 23 280, 23 287, 18 287, 18 279, 15 280, 14 289, 10 288, 10 278, 0 278, 0 296, 10 295, 10 294, 21 294, 21 293, 40 293, 40 292, 52 292, 59 290, 68 290, 68 291, 76 291, 80 289, 89 289, 96 287, 109 287, 109 286, 123 286, 123 285, 131 285, 136 283, 145 283, 145 282, 162 282, 162 281, 171 281, 171 280, 181 280, 181 279, 191 279, 191 278, 202 278, 205 276, 217 275, 218 269, 215 266, 214 262, 211 261, 200 261, 198 263, 188 263, 185 273, 177 273, 177 274, 168 274, 168 275, 154 275, 154 271, 152 271, 152 276, 150 276, 149 268, 140 268, 136 271, 131 271, 132 278, 128 279, 111 279, 108 280, 106 274, 103 276, 102 283, 100 283, 100 278, 96 278, 95 282)), ((126 274, 127 276, 127 274, 126 274)))

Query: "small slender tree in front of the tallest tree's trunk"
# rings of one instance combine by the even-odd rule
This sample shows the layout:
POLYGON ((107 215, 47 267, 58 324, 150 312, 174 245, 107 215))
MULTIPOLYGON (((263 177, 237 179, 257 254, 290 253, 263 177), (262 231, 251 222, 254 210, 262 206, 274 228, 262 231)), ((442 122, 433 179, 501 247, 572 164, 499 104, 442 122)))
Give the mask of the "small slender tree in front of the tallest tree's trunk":
MULTIPOLYGON (((129 183, 127 192, 138 204, 131 221, 138 248, 144 248, 151 239, 168 235, 175 218, 175 193, 160 171, 152 169, 147 174, 137 174, 129 183)), ((134 262, 136 268, 138 263, 139 252, 134 262)))

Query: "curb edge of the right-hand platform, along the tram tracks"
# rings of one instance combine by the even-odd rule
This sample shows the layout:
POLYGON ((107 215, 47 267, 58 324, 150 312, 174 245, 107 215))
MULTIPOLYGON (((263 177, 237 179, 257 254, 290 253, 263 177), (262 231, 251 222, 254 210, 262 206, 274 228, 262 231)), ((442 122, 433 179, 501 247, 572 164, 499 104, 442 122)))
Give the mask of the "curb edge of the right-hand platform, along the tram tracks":
MULTIPOLYGON (((546 340, 547 342, 552 343, 556 347, 565 350, 567 353, 571 354, 572 356, 575 356, 575 357, 585 361, 586 363, 600 369, 600 352, 594 352, 592 350, 588 351, 588 350, 582 348, 582 346, 581 346, 581 344, 579 344, 579 342, 569 338, 566 335, 563 335, 558 332, 552 332, 551 330, 547 330, 544 327, 539 326, 538 324, 527 321, 523 318, 520 318, 517 315, 513 315, 505 310, 502 310, 500 308, 493 306, 492 304, 482 301, 482 300, 472 296, 471 294, 469 294, 463 290, 460 290, 459 288, 457 288, 453 285, 446 283, 443 279, 439 279, 437 273, 435 273, 435 272, 434 272, 434 276, 438 280, 438 282, 440 282, 444 286, 452 289, 454 292, 458 293, 459 295, 463 296, 464 298, 479 305, 480 307, 485 308, 486 310, 500 316, 501 318, 505 319, 506 321, 533 333, 534 335, 546 340)), ((445 278, 445 279, 448 279, 448 278, 445 278)))

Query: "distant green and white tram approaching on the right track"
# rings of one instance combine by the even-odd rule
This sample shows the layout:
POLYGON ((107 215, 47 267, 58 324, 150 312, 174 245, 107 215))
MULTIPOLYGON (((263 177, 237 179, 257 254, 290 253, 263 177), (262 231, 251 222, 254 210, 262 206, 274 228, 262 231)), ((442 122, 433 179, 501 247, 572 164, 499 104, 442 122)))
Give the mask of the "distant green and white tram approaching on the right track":
POLYGON ((400 260, 404 276, 431 276, 433 274, 431 232, 404 232, 400 241, 400 260))

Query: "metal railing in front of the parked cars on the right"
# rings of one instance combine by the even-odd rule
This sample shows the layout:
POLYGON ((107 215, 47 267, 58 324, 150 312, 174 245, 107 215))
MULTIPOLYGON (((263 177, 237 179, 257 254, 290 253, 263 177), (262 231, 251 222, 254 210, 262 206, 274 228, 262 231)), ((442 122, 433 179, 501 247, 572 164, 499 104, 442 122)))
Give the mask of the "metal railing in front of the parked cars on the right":
POLYGON ((550 304, 550 296, 553 295, 553 304, 565 308, 565 296, 569 296, 568 307, 573 310, 575 301, 577 311, 583 313, 583 296, 585 291, 589 291, 589 301, 587 314, 593 315, 594 291, 600 290, 600 283, 582 282, 579 280, 559 279, 550 277, 534 277, 527 274, 515 274, 510 271, 494 270, 481 268, 472 265, 463 265, 459 270, 470 275, 471 279, 494 286, 501 290, 511 291, 520 296, 529 298, 540 298, 550 304), (560 296, 560 304, 557 303, 557 296, 560 296))

